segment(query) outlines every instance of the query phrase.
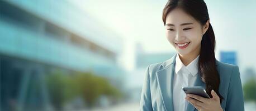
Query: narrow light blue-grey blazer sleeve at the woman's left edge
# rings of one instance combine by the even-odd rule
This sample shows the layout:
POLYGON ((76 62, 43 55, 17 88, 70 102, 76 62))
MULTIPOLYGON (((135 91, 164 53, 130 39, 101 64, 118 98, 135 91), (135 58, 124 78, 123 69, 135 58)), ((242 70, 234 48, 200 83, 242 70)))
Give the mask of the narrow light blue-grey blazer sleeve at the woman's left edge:
POLYGON ((140 110, 143 111, 153 110, 151 104, 149 67, 150 65, 148 66, 148 68, 146 68, 145 71, 144 83, 140 98, 140 110))

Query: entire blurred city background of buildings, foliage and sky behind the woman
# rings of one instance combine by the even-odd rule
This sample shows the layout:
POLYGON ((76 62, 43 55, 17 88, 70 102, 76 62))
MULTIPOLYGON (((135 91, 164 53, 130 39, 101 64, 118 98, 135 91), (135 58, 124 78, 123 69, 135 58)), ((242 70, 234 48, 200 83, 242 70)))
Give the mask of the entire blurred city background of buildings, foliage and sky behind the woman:
MULTIPOLYGON (((146 67, 176 51, 167 0, 0 0, 0 110, 139 110, 146 67)), ((216 58, 256 110, 256 1, 205 0, 216 58)))

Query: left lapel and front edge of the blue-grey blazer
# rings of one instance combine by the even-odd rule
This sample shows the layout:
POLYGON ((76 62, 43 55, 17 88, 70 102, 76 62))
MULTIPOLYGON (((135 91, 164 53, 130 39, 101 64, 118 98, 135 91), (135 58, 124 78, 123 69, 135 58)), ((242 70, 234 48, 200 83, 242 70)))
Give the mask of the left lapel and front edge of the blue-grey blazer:
POLYGON ((157 80, 162 94, 162 100, 167 111, 173 111, 173 74, 176 55, 169 60, 163 62, 161 65, 163 69, 157 72, 157 80))

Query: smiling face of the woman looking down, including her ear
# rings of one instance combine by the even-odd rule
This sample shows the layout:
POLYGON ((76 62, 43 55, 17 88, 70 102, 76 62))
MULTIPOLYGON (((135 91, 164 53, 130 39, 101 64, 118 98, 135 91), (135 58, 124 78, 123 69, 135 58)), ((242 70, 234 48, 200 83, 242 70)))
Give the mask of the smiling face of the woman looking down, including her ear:
POLYGON ((202 27, 200 22, 180 8, 170 11, 165 21, 167 39, 179 54, 185 56, 200 53, 202 36, 207 31, 208 22, 202 27))

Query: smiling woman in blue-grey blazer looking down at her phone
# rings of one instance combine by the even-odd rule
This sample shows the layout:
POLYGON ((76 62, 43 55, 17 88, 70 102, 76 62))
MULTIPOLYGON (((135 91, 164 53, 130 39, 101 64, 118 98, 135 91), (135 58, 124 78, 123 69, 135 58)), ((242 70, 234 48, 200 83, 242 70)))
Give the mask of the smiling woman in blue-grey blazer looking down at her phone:
POLYGON ((177 54, 149 65, 140 110, 244 110, 240 72, 215 58, 215 34, 203 0, 169 0, 165 34, 177 54), (182 92, 201 86, 211 98, 182 92), (235 107, 234 107, 235 106, 235 107))

